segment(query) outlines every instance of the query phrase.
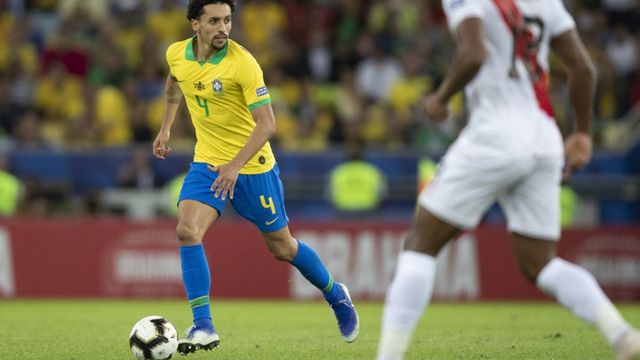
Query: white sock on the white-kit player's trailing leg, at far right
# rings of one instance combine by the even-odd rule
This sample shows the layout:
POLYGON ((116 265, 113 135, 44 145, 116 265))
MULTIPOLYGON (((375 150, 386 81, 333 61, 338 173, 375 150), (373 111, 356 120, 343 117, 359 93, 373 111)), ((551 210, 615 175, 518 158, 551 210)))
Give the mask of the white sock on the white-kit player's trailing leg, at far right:
POLYGON ((594 324, 611 345, 631 328, 593 275, 578 265, 554 258, 538 275, 537 285, 574 315, 594 324))

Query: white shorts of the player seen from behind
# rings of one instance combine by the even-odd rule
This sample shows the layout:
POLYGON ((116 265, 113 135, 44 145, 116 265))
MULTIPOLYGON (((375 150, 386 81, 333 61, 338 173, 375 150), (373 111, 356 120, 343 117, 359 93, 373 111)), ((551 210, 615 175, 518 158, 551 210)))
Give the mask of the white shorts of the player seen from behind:
POLYGON ((457 141, 418 201, 438 218, 462 229, 476 227, 498 201, 509 231, 557 240, 562 166, 561 152, 487 151, 457 141))

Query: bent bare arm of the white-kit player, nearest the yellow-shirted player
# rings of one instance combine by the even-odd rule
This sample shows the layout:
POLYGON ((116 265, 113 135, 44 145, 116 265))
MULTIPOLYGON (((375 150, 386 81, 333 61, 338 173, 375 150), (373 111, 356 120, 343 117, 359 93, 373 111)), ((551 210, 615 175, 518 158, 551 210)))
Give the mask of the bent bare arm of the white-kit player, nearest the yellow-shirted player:
POLYGON ((482 20, 470 17, 456 30, 456 52, 438 90, 425 99, 425 111, 433 121, 443 121, 449 115, 449 100, 476 76, 484 59, 484 30, 482 20))

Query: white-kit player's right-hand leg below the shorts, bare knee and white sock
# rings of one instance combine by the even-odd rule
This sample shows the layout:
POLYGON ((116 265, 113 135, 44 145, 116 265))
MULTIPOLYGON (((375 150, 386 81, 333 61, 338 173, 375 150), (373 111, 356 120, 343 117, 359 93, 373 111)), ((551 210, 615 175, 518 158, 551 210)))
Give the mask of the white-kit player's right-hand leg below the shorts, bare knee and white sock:
POLYGON ((529 281, 595 325, 620 359, 640 358, 640 333, 622 318, 591 273, 557 257, 555 241, 517 233, 512 233, 512 238, 518 264, 529 281))

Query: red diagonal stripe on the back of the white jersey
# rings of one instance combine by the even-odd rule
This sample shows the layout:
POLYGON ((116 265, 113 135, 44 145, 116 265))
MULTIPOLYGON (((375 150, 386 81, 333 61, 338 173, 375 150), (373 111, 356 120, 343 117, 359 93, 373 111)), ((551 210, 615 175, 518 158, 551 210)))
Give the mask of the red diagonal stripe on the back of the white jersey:
MULTIPOLYGON (((513 34, 513 61, 515 62, 516 58, 523 61, 529 72, 538 106, 547 115, 553 117, 553 107, 549 96, 549 76, 538 63, 538 44, 533 32, 527 26, 526 19, 522 16, 514 0, 493 0, 493 3, 513 34)), ((511 69, 510 74, 517 76, 515 68, 511 69)))

